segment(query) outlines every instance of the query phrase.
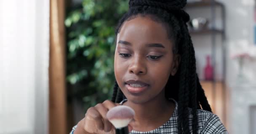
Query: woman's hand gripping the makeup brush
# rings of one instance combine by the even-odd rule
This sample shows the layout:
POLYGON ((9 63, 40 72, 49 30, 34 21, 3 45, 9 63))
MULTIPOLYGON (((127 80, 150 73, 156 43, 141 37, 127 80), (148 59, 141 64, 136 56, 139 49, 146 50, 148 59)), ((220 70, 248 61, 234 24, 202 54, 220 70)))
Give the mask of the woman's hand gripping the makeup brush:
MULTIPOLYGON (((116 108, 114 107, 118 108, 119 106, 121 106, 119 103, 113 103, 112 101, 107 100, 107 101, 104 101, 103 103, 97 104, 94 107, 88 108, 85 114, 85 118, 77 124, 77 128, 75 129, 74 134, 117 134, 115 127, 110 123, 111 119, 115 119, 115 116, 112 116, 112 113, 110 113, 109 115, 110 121, 109 121, 107 119, 107 112, 112 108, 113 110, 115 110, 116 108)), ((121 106, 121 107, 126 107, 126 106, 121 106)), ((117 119, 122 120, 120 114, 115 114, 115 115, 117 115, 117 119)), ((132 119, 133 117, 130 119, 130 121, 132 119)), ((127 122, 127 119, 125 120, 125 122, 127 122)), ((126 127, 125 130, 131 131, 132 130, 131 125, 128 125, 128 127, 126 127)))

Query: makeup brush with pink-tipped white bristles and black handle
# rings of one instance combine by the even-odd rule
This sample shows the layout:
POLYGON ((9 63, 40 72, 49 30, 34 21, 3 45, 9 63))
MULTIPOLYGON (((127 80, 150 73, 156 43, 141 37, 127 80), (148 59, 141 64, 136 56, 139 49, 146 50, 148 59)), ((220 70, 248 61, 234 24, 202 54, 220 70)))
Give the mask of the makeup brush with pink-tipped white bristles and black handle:
POLYGON ((135 112, 128 106, 116 106, 107 112, 107 119, 115 126, 116 134, 128 134, 128 124, 135 112))

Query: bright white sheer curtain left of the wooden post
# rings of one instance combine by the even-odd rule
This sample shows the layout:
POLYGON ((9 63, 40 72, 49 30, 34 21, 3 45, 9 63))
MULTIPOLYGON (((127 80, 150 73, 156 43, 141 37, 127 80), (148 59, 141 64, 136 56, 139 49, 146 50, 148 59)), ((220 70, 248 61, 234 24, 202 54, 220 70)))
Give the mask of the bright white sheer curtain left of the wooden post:
POLYGON ((0 0, 0 134, 48 134, 49 0, 0 0))

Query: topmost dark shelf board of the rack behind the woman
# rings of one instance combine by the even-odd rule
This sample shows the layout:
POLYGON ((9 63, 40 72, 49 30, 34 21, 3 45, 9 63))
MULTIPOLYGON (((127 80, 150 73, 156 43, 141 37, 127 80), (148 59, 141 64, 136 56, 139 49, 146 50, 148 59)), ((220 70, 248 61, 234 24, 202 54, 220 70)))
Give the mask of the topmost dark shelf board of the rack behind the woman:
POLYGON ((187 3, 187 6, 185 8, 210 7, 211 5, 224 7, 224 5, 222 3, 219 3, 218 1, 212 2, 211 0, 202 0, 198 2, 187 3))

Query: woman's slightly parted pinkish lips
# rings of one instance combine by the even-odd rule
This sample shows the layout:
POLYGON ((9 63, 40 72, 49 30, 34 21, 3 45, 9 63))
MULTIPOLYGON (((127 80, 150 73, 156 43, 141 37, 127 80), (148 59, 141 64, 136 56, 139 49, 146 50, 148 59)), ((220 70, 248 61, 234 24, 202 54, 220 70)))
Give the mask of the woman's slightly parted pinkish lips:
POLYGON ((149 84, 141 80, 127 80, 125 82, 125 87, 130 93, 141 93, 149 87, 149 84))

